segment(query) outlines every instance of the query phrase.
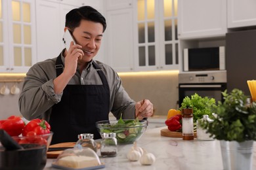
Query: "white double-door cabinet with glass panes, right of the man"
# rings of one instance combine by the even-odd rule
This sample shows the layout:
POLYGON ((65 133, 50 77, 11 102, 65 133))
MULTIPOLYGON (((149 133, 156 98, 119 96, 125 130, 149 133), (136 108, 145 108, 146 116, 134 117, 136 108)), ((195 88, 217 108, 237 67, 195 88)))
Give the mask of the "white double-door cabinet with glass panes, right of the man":
POLYGON ((179 68, 175 0, 139 0, 134 5, 135 71, 179 68))

